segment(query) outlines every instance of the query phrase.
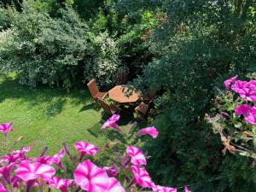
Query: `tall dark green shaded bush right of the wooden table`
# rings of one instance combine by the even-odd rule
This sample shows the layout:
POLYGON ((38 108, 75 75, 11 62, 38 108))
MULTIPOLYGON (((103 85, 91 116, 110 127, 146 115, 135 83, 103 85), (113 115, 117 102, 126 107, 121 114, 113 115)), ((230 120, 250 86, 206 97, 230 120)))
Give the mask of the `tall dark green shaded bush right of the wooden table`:
POLYGON ((151 172, 163 184, 178 186, 190 179, 196 183, 192 191, 255 190, 252 160, 222 157, 221 143, 204 124, 214 85, 223 86, 230 73, 244 76, 255 71, 255 4, 236 3, 170 0, 162 4, 166 16, 150 42, 156 56, 136 84, 164 92, 156 102, 160 113, 156 125, 162 137, 148 146, 149 154, 158 157, 149 162, 151 172))

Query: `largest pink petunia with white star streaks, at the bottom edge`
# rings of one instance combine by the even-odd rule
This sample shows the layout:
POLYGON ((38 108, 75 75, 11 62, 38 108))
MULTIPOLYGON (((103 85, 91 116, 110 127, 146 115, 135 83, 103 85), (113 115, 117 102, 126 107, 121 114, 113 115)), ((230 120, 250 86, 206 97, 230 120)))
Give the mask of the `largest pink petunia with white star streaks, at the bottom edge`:
POLYGON ((102 192, 108 189, 108 175, 102 168, 84 160, 73 172, 75 183, 88 192, 102 192))

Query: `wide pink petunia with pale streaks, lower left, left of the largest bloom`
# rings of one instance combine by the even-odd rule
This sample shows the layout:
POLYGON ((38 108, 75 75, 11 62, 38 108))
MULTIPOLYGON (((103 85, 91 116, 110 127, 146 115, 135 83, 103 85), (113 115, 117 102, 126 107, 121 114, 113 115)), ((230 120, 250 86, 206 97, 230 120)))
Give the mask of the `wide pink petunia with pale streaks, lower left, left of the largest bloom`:
POLYGON ((41 163, 30 163, 24 160, 15 170, 16 176, 24 181, 29 181, 41 177, 44 181, 48 181, 55 175, 55 168, 41 163))

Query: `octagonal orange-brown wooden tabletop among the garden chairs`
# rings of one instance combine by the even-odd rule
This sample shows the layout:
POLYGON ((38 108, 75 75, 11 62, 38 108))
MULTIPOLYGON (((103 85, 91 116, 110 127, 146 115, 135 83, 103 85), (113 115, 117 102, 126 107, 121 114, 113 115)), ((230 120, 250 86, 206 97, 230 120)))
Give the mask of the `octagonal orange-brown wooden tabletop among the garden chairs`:
POLYGON ((108 91, 108 96, 115 102, 137 102, 141 94, 132 86, 116 85, 108 91))

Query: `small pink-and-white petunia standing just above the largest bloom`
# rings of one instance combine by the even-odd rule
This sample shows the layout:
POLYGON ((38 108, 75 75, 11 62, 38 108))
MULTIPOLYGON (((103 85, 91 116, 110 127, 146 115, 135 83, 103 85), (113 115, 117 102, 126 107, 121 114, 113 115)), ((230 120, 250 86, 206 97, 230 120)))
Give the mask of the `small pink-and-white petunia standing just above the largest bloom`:
POLYGON ((94 156, 99 148, 95 145, 85 142, 78 142, 73 144, 74 148, 76 148, 79 152, 81 152, 80 160, 84 158, 85 154, 89 154, 90 156, 94 156))

